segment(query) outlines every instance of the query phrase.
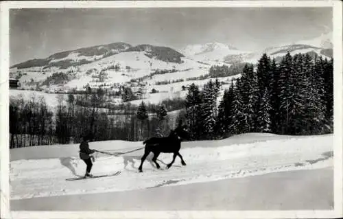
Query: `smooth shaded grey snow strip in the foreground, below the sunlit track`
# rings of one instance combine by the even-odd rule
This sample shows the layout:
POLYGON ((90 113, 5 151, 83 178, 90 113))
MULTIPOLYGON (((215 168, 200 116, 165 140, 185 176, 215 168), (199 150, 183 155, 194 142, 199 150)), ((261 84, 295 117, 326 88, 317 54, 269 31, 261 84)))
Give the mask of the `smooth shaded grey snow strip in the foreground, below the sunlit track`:
MULTIPOLYGON (((99 211, 108 210, 141 210, 144 214, 147 211, 198 211, 201 216, 196 218, 213 218, 212 214, 206 217, 204 212, 333 209, 332 168, 163 186, 174 182, 165 181, 149 189, 125 192, 12 200, 10 204, 12 211, 95 211, 94 216, 87 214, 90 218, 101 218, 99 211), (160 196, 163 198, 156 198, 160 196)), ((150 218, 153 218, 151 214, 150 218)), ((189 215, 185 218, 189 218, 189 215)))

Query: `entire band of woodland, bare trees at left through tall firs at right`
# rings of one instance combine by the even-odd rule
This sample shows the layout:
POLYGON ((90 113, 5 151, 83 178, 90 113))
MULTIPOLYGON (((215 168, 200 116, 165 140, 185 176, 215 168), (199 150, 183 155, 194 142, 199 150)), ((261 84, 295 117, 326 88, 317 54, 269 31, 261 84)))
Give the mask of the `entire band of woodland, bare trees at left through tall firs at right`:
MULTIPOLYGON (((222 76, 225 70, 213 67, 209 73, 222 76)), ((179 119, 188 125, 190 140, 245 132, 333 132, 333 59, 287 53, 276 62, 263 54, 256 67, 244 65, 241 78, 232 81, 222 97, 221 86, 218 80, 202 88, 190 84, 186 100, 126 103, 112 112, 100 107, 106 99, 103 92, 69 94, 67 100, 61 96, 54 109, 42 98, 11 98, 10 148, 75 143, 89 133, 95 141, 141 141, 168 135, 179 119)))

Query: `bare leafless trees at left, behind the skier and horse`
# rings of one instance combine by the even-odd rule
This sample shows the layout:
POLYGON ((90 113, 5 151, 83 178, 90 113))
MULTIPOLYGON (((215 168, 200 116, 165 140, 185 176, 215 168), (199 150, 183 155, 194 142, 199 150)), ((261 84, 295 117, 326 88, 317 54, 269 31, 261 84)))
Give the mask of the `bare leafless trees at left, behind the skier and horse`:
POLYGON ((93 135, 95 141, 121 139, 141 141, 165 136, 175 117, 167 111, 182 108, 182 100, 165 100, 162 104, 139 106, 121 104, 115 113, 101 108, 105 95, 69 94, 58 97, 56 108, 48 108, 43 98, 10 100, 10 148, 78 142, 81 135, 93 135), (82 106, 87 103, 88 107, 82 106), (167 107, 165 106, 167 105, 167 107), (171 105, 175 106, 171 106, 171 105), (124 112, 124 113, 123 113, 124 112))

